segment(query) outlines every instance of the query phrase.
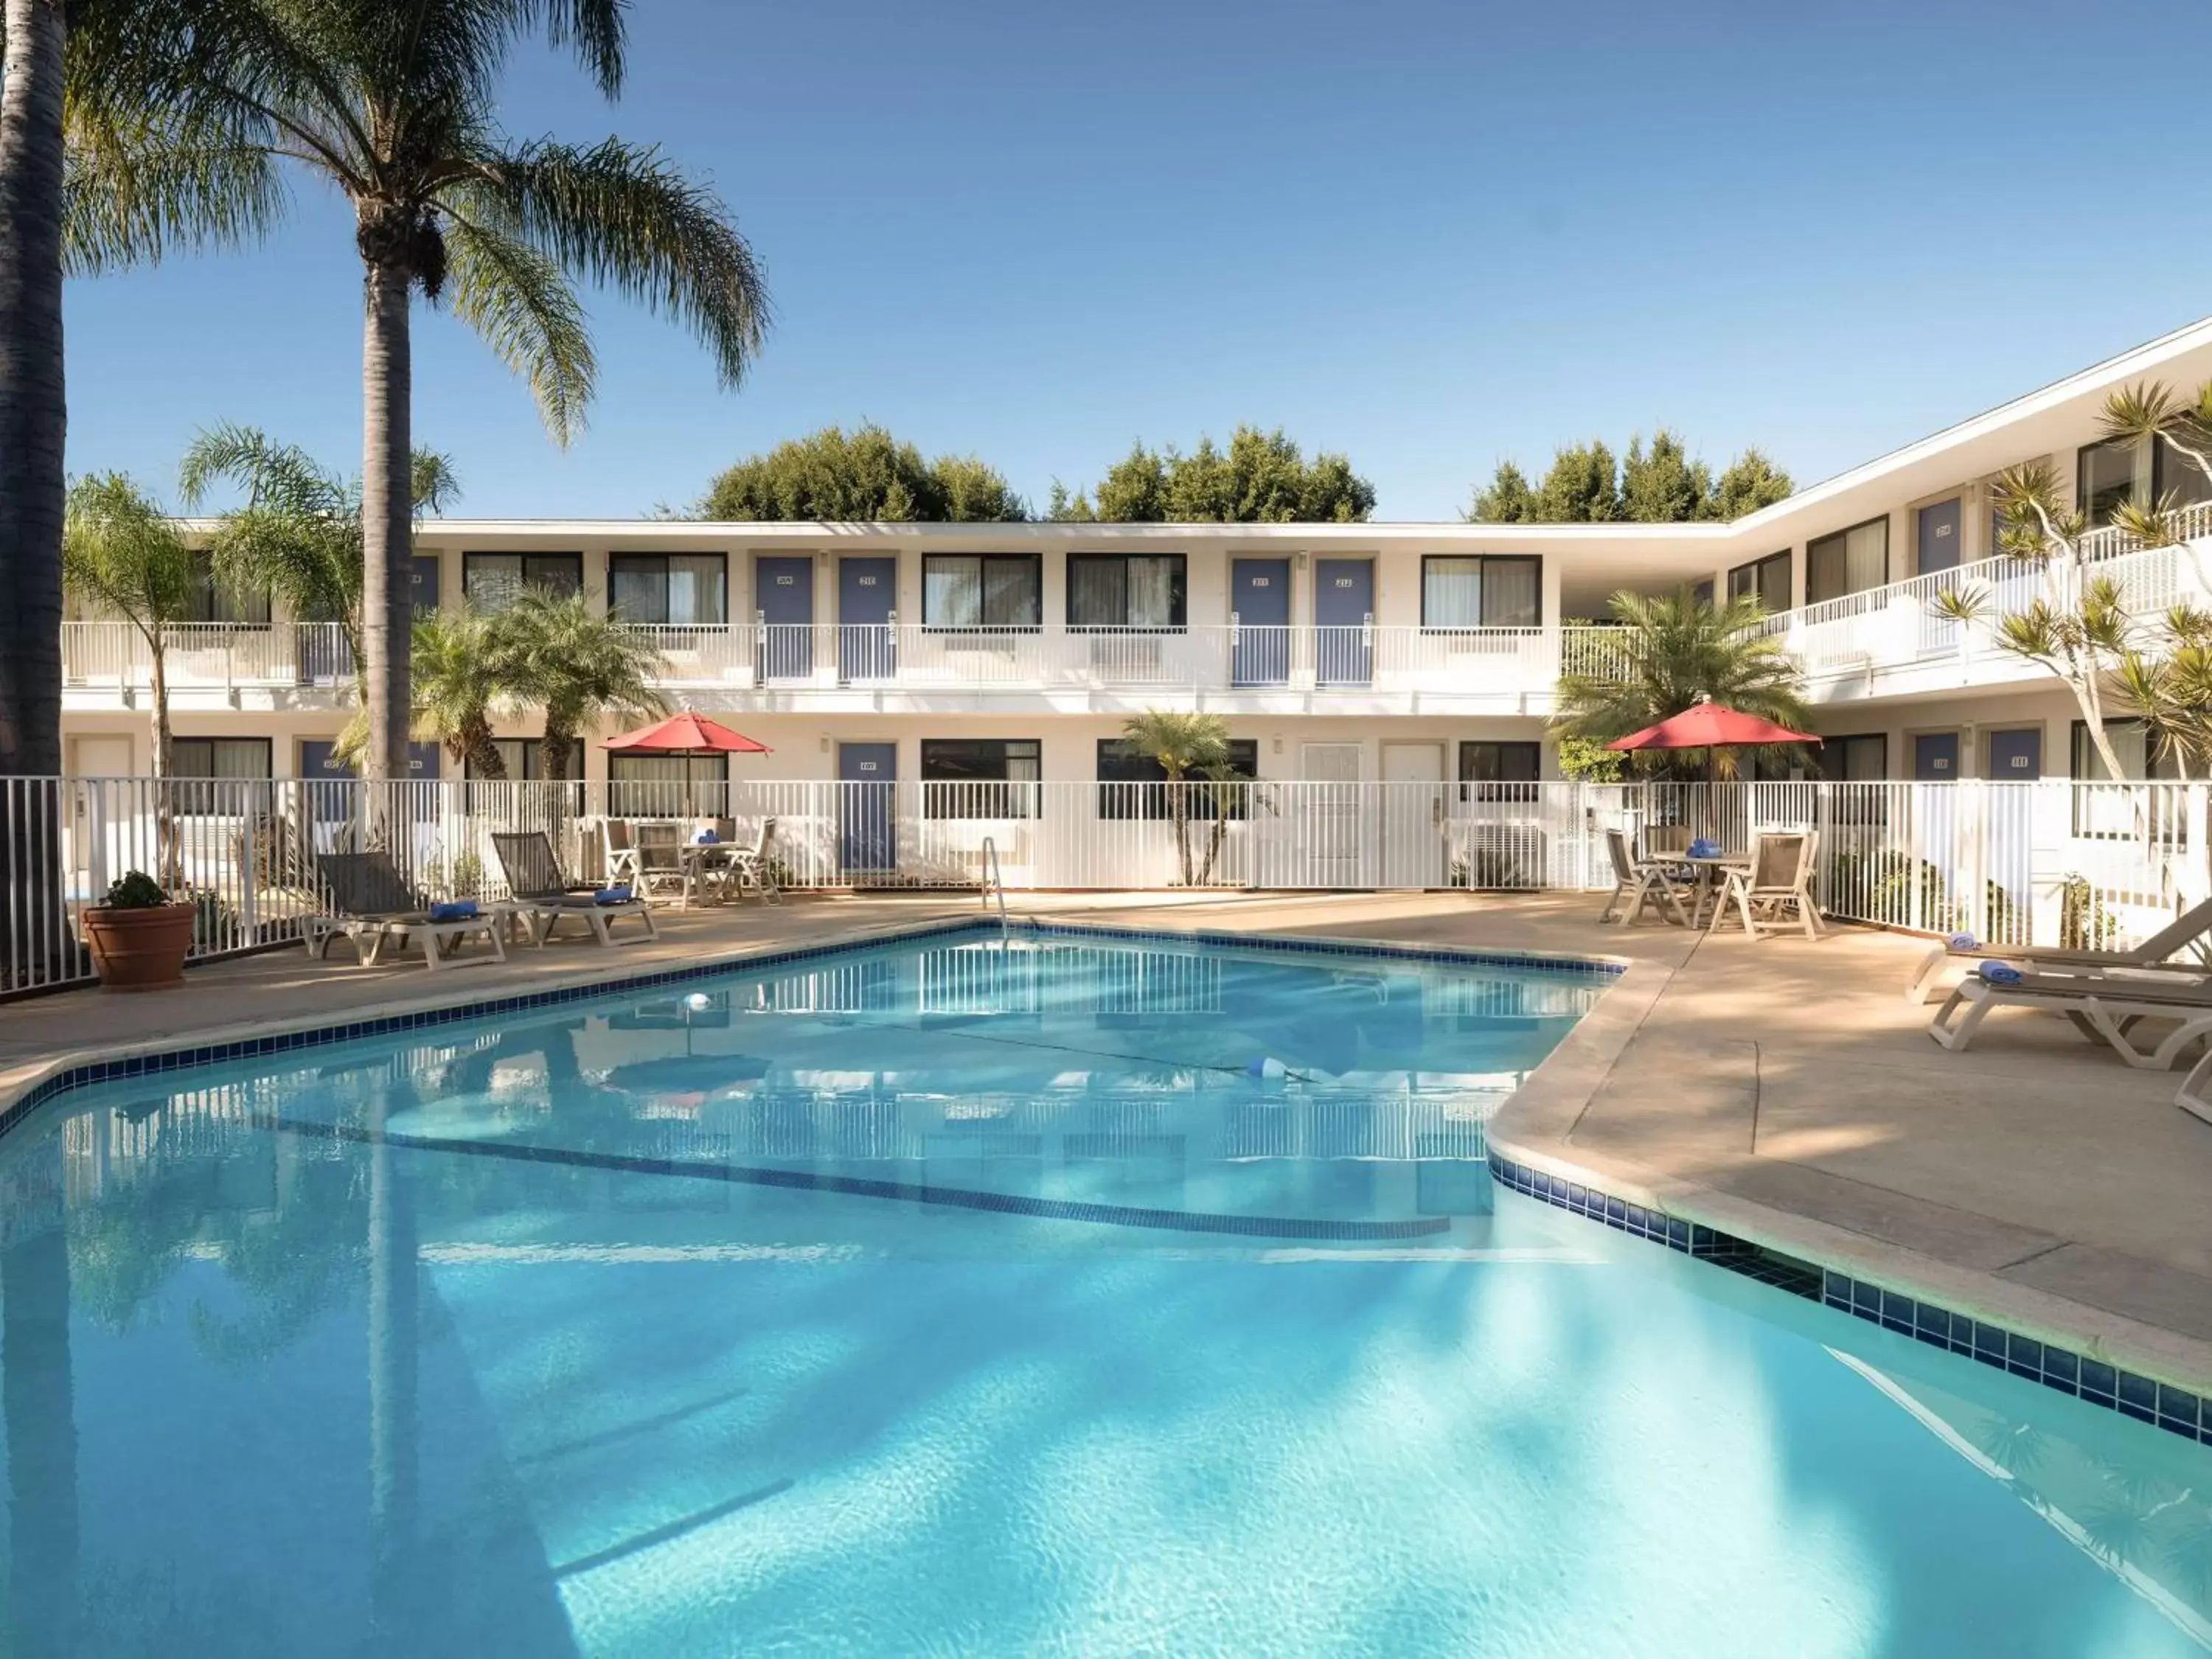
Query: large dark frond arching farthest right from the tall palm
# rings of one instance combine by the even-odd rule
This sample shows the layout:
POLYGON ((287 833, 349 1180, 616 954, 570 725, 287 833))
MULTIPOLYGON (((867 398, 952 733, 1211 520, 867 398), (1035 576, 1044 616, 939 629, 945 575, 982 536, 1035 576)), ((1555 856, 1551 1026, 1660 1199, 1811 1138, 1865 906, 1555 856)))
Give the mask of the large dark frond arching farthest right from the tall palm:
POLYGON ((739 385, 768 332, 768 285, 710 188, 657 148, 538 139, 487 157, 451 192, 480 228, 513 234, 562 270, 686 323, 739 385))

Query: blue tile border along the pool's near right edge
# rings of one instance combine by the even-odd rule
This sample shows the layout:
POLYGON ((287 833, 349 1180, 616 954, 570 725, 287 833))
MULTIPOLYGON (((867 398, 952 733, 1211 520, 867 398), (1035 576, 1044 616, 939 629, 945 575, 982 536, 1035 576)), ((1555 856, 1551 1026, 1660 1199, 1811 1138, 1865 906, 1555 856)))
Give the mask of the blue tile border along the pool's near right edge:
POLYGON ((2028 1383, 2057 1389, 2088 1405, 2148 1422, 2212 1447, 2212 1400, 2172 1383, 2159 1383, 2108 1360, 2095 1360, 2057 1343, 1991 1325, 1986 1318, 1958 1314, 1938 1303, 1851 1279, 1834 1267, 1798 1265, 1770 1256, 1747 1239, 1670 1217, 1663 1210, 1628 1203, 1579 1181, 1531 1170, 1524 1164, 1491 1152, 1491 1179, 1522 1197, 1571 1210, 1588 1221, 1601 1221, 1615 1232, 1679 1250, 1681 1254, 1732 1267, 1772 1283, 1838 1314, 1863 1318, 1916 1343, 1960 1354, 1969 1360, 2011 1371, 2028 1383))

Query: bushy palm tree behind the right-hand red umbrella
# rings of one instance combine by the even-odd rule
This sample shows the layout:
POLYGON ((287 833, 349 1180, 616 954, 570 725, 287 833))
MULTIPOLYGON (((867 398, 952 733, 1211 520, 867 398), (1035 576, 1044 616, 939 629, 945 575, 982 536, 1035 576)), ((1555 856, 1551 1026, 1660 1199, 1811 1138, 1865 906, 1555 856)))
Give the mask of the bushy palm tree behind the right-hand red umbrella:
MULTIPOLYGON (((1805 728, 1805 670, 1778 637, 1756 633, 1767 615, 1756 597, 1712 606, 1690 588, 1666 597, 1615 593, 1608 608, 1619 637, 1606 641, 1599 672, 1559 675, 1559 712, 1551 721, 1557 737, 1610 743, 1699 701, 1805 728)), ((1679 754, 1697 763, 1697 750, 1679 754)), ((1734 750, 1708 752, 1703 772, 1734 776, 1734 750)))

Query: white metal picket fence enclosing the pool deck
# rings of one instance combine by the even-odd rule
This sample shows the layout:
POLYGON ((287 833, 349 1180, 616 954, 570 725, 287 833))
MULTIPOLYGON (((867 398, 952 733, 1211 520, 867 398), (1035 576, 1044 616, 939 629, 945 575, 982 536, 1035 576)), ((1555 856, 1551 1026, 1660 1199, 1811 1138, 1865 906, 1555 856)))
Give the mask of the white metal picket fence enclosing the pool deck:
POLYGON ((1597 889, 1604 832, 1652 847, 1820 832, 1845 920, 2119 945, 2208 891, 2208 785, 2181 783, 471 783, 0 779, 0 982, 88 978, 77 914, 128 869, 197 905, 195 956, 296 936, 319 854, 383 847, 425 894, 500 898, 495 830, 544 830, 577 878, 602 823, 774 818, 783 887, 973 887, 982 843, 1031 889, 1597 889), (1188 874, 1186 874, 1188 872, 1188 874))

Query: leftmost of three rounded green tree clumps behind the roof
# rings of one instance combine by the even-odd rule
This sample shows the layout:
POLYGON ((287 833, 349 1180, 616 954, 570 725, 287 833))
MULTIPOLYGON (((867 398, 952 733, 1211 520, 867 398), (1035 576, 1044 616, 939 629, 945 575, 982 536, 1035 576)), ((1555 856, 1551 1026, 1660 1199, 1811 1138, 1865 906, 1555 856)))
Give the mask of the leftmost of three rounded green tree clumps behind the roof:
POLYGON ((1029 504, 975 456, 922 460, 874 422, 823 427, 723 471, 699 515, 741 522, 1020 522, 1029 504))

